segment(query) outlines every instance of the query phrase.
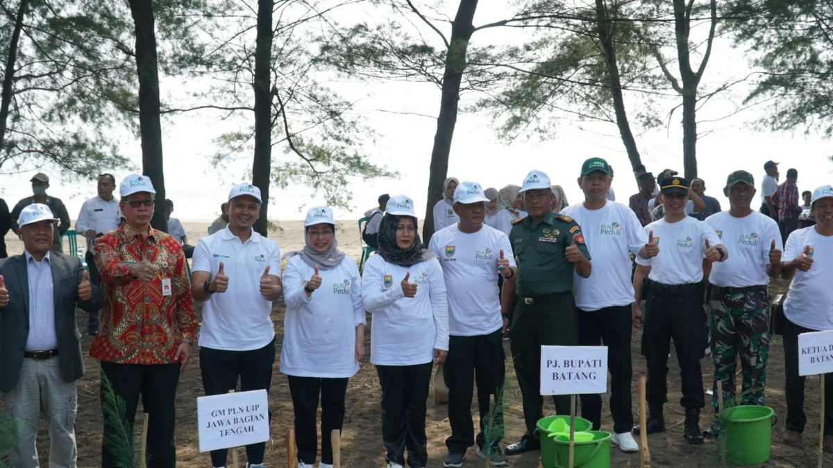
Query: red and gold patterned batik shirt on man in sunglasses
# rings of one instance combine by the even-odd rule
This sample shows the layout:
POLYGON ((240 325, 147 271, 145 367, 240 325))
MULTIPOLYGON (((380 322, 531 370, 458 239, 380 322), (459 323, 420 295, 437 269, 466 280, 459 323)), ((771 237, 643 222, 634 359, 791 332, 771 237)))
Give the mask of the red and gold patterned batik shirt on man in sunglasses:
POLYGON ((155 229, 142 238, 122 223, 98 237, 93 247, 104 296, 101 326, 90 356, 118 364, 171 364, 177 346, 193 344, 197 315, 182 246, 155 229), (130 276, 142 258, 157 266, 151 282, 130 276), (162 279, 171 279, 171 295, 162 296, 162 279))

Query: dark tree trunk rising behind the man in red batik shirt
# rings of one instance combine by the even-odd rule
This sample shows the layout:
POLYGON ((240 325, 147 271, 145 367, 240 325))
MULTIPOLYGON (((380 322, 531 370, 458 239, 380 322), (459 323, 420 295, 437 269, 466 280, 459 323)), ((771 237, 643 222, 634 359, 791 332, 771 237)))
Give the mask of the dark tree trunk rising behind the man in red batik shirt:
POLYGON ((139 77, 139 132, 142 137, 142 173, 156 189, 151 226, 167 232, 165 175, 162 165, 162 123, 159 120, 159 67, 152 0, 129 0, 136 32, 136 70, 139 77))

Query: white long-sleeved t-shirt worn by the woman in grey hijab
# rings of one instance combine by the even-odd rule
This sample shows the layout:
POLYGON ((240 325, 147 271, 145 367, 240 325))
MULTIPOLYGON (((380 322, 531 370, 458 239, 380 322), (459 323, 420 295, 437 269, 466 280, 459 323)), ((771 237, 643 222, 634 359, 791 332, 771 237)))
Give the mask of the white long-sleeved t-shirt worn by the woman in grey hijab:
POLYGON ((281 372, 287 376, 344 378, 359 371, 356 327, 365 322, 362 278, 356 261, 344 256, 329 270, 318 269, 321 287, 307 297, 304 286, 315 273, 301 256, 287 260, 283 271, 281 372))

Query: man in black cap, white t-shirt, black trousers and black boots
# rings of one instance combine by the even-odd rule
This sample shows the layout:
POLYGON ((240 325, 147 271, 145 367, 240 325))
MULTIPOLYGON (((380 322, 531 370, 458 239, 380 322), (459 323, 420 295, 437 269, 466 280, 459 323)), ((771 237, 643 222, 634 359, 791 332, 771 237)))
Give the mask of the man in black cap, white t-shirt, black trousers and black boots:
POLYGON ((700 410, 706 406, 706 398, 700 360, 708 344, 703 310, 703 257, 712 262, 725 261, 729 254, 711 226, 686 216, 689 194, 686 179, 665 177, 660 181, 660 190, 665 216, 644 228, 648 241, 656 242, 660 251, 648 259, 637 256, 633 278, 636 301, 631 313, 636 328, 643 326, 639 301, 645 298, 642 355, 648 367, 646 400, 650 410, 646 427, 635 428, 634 432, 653 434, 666 430, 662 406, 668 401, 668 353, 670 341, 674 340, 682 377, 680 404, 686 409, 683 434, 686 442, 701 444, 700 410))

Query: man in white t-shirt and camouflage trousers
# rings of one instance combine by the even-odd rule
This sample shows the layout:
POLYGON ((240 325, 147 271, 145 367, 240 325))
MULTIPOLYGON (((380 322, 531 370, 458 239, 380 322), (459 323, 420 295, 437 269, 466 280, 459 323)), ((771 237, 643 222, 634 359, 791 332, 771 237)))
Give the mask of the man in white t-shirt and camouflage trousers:
MULTIPOLYGON (((723 189, 731 209, 708 217, 721 241, 732 249, 727 261, 711 267, 707 305, 711 325, 711 360, 715 386, 711 406, 717 408, 716 382, 723 382, 726 406, 763 405, 766 357, 769 353, 770 278, 781 274, 781 235, 771 217, 751 209, 755 181, 746 171, 732 172, 723 189), (736 393, 735 367, 741 357, 743 382, 736 393)), ((716 436, 717 419, 706 431, 716 436)))

